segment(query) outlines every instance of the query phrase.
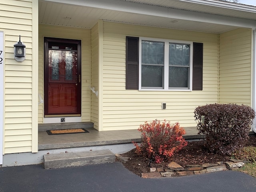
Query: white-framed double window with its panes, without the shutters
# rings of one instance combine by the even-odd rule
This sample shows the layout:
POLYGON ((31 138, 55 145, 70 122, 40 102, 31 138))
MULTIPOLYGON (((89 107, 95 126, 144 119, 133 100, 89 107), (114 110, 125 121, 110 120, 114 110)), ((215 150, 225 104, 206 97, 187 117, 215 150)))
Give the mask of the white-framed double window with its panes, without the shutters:
POLYGON ((191 90, 192 42, 140 38, 139 89, 191 90))

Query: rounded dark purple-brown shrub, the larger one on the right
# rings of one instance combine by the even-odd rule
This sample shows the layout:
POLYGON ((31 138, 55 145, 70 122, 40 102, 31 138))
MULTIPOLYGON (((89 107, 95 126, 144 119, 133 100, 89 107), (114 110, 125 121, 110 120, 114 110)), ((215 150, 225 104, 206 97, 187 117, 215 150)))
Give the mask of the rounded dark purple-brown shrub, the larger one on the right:
POLYGON ((207 104, 197 107, 194 114, 198 134, 206 137, 204 145, 227 155, 244 147, 255 116, 251 107, 237 104, 207 104))

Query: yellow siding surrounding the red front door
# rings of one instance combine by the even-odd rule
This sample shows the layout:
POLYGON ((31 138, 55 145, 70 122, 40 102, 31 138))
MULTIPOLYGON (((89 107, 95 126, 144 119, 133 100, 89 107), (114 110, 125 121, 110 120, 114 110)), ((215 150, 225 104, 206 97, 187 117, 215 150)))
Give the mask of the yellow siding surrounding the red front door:
MULTIPOLYGON (((44 95, 44 37, 82 40, 82 121, 90 121, 90 30, 64 26, 39 25, 38 92, 44 95)), ((43 104, 38 106, 38 123, 43 123, 43 104)))

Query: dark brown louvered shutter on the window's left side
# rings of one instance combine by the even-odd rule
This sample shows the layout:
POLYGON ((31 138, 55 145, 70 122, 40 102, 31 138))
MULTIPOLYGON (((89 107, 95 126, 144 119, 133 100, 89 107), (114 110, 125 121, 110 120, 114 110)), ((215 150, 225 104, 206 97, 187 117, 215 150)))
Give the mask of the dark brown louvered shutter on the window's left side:
POLYGON ((139 89, 139 38, 126 37, 126 89, 139 89))

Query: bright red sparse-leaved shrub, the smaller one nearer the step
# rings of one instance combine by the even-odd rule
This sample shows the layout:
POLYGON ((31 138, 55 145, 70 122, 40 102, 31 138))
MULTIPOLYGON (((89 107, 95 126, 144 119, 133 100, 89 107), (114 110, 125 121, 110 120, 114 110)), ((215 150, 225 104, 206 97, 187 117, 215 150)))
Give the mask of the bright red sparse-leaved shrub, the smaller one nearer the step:
POLYGON ((142 135, 140 145, 134 143, 136 153, 156 163, 168 160, 175 152, 187 145, 182 137, 185 130, 178 122, 175 124, 166 121, 161 123, 159 120, 151 123, 145 122, 140 125, 138 131, 142 135))

